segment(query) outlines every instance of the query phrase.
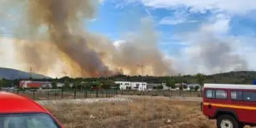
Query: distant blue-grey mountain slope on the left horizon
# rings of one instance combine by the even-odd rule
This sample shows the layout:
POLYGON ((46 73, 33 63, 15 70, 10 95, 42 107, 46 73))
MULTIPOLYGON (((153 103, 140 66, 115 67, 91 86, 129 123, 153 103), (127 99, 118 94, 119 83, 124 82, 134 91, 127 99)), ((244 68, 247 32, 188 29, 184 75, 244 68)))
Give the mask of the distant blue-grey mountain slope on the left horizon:
POLYGON ((35 79, 41 79, 41 78, 50 78, 46 75, 40 75, 35 73, 28 73, 21 70, 14 70, 11 68, 0 68, 0 78, 6 78, 8 80, 14 80, 14 79, 25 79, 25 78, 31 78, 31 76, 35 79))

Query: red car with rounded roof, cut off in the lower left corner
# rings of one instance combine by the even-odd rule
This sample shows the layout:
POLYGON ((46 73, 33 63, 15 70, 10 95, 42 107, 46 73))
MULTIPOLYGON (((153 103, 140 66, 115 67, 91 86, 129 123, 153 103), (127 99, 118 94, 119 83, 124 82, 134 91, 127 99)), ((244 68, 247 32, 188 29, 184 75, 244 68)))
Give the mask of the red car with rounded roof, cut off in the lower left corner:
POLYGON ((63 128, 63 125, 37 102, 0 92, 0 128, 63 128))

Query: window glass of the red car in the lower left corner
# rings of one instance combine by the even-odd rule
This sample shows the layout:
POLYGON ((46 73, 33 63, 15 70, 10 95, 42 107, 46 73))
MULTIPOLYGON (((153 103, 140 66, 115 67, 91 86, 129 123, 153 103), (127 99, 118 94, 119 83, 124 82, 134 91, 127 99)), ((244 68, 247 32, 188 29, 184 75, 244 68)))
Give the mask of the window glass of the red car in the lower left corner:
POLYGON ((0 114, 0 128, 60 128, 48 114, 0 114))

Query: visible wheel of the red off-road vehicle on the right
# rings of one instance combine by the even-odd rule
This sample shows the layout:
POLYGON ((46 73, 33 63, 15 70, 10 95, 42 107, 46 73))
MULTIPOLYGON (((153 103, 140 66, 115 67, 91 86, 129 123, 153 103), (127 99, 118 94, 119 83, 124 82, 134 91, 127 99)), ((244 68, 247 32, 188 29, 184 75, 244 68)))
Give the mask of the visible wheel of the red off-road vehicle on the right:
POLYGON ((239 128, 238 122, 234 119, 234 117, 228 114, 223 114, 218 116, 217 127, 218 128, 239 128))

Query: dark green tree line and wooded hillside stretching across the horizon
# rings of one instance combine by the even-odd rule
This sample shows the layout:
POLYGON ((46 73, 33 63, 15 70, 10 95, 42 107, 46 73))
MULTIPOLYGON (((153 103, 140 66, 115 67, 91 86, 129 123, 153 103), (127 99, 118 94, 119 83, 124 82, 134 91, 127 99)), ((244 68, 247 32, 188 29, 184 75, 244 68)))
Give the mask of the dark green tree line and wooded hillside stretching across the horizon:
MULTIPOLYGON (((166 83, 168 87, 174 87, 175 83, 185 82, 188 84, 203 85, 203 83, 230 83, 230 84, 252 84, 252 81, 256 78, 256 72, 254 71, 239 71, 230 73, 219 73, 213 75, 204 75, 198 73, 196 75, 176 75, 176 76, 143 76, 144 82, 147 83, 166 83)), ((89 89, 90 87, 102 87, 102 88, 115 88, 118 85, 114 84, 114 81, 130 81, 130 82, 141 82, 142 75, 114 75, 108 78, 53 78, 53 79, 15 79, 7 80, 0 79, 1 87, 15 87, 19 84, 20 80, 35 80, 35 81, 48 81, 52 82, 52 85, 56 87, 57 82, 65 84, 64 87, 70 87, 70 83, 73 84, 73 88, 84 88, 89 89)), ((161 88, 161 87, 156 87, 161 88)))

